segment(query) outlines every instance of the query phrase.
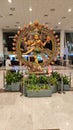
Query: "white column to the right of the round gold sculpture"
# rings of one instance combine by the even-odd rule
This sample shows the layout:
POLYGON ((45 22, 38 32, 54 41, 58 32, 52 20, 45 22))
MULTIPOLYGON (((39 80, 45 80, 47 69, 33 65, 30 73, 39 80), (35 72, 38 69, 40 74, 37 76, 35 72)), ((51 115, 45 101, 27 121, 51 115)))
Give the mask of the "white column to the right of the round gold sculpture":
POLYGON ((64 56, 64 30, 60 32, 60 56, 64 56))

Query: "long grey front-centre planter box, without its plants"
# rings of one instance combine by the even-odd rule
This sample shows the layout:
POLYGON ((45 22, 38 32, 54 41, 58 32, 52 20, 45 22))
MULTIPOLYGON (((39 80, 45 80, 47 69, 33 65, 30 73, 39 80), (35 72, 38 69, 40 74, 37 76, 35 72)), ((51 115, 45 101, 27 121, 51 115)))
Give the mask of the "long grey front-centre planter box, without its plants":
POLYGON ((26 90, 28 97, 51 97, 52 91, 50 90, 26 90))

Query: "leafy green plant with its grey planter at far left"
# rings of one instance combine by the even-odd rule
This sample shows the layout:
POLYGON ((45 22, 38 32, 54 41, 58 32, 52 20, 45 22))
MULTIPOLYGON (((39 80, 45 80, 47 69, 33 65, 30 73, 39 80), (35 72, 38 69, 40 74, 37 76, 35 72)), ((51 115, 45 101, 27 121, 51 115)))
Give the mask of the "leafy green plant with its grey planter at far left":
POLYGON ((20 82, 23 75, 19 72, 11 72, 7 71, 5 80, 5 89, 9 91, 19 91, 20 90, 20 82))

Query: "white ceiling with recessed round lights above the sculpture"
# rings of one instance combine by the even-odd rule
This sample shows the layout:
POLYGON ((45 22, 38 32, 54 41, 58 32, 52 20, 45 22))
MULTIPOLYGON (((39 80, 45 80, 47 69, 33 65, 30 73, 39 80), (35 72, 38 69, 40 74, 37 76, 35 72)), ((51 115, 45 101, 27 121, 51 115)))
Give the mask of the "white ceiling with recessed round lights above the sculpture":
POLYGON ((17 29, 30 21, 48 23, 49 28, 53 29, 73 30, 73 0, 12 0, 12 3, 0 0, 0 28, 17 29), (29 12, 29 7, 32 7, 32 12, 29 12), (72 8, 70 13, 68 8, 72 8), (44 16, 46 14, 48 16, 44 16), (58 22, 61 24, 58 25, 58 22))

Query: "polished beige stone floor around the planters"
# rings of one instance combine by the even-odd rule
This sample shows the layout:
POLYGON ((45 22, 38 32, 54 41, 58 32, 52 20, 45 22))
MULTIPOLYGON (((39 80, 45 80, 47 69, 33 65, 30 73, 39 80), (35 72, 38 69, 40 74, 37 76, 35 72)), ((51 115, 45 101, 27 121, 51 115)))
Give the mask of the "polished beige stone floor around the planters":
MULTIPOLYGON (((71 72, 73 79, 70 68, 54 67, 54 70, 67 75, 71 72)), ((3 73, 4 70, 0 70, 0 88, 3 88, 3 73)), ((47 98, 27 98, 19 92, 0 93, 0 130, 56 128, 73 130, 73 91, 47 98)))

